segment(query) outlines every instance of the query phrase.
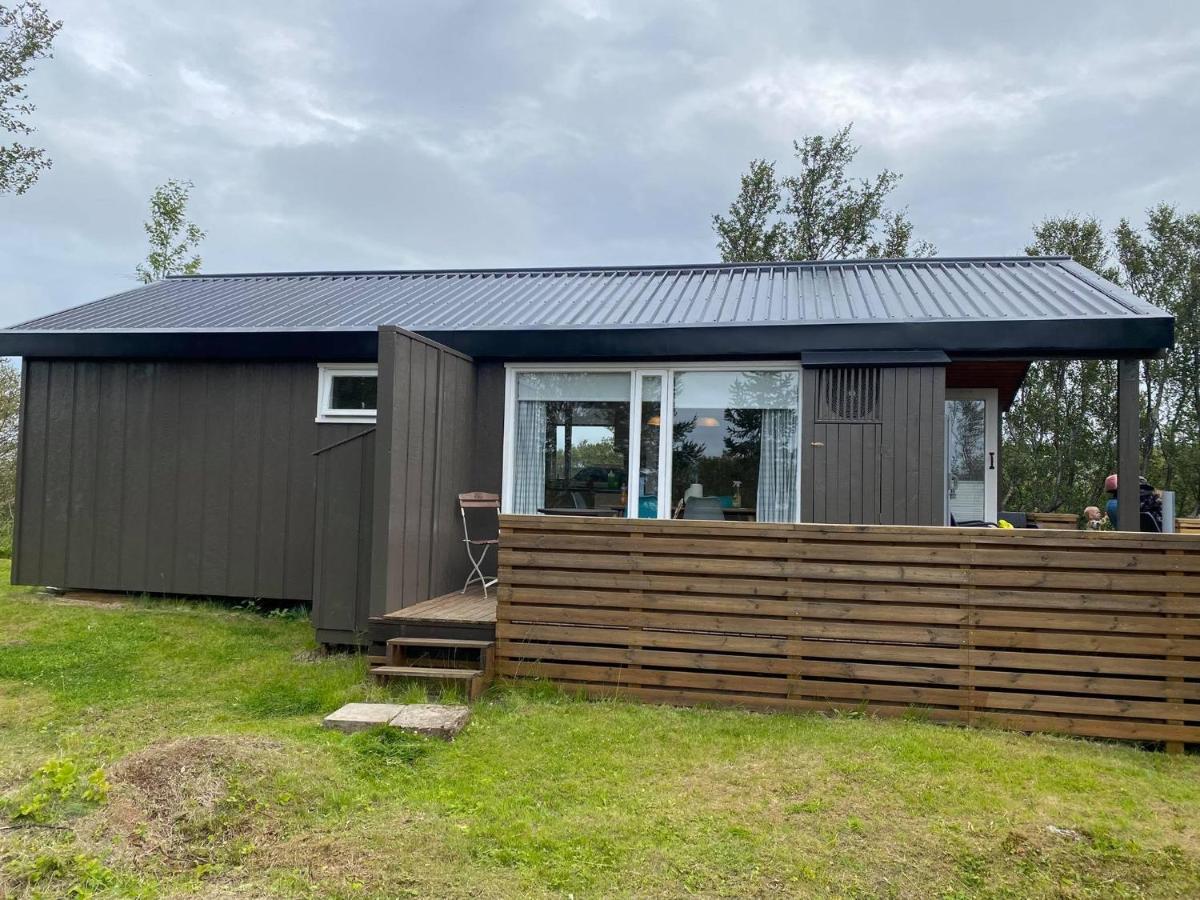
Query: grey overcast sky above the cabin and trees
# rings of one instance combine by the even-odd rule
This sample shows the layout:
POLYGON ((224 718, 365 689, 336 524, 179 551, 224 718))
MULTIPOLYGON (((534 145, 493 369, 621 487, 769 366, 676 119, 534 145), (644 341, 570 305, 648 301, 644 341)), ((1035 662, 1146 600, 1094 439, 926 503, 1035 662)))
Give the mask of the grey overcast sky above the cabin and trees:
POLYGON ((133 286, 169 178, 205 271, 710 262, 746 162, 851 120, 942 254, 1200 209, 1190 0, 46 4, 5 324, 133 286))

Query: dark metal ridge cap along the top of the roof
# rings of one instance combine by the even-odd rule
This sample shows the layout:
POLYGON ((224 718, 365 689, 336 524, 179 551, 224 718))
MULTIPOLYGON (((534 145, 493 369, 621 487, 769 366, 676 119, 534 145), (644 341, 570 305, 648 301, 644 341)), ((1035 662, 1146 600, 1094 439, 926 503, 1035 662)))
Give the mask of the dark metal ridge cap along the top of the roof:
POLYGON ((313 269, 299 271, 264 272, 196 272, 194 275, 168 275, 166 281, 203 281, 204 278, 305 278, 305 277, 371 277, 408 275, 559 275, 604 272, 662 272, 662 271, 720 271, 738 269, 790 269, 829 266, 902 266, 942 264, 1000 264, 1000 263, 1057 263, 1068 256, 997 256, 997 257, 863 257, 853 259, 788 259, 781 262, 746 263, 652 263, 648 265, 560 265, 560 266, 512 266, 493 269, 313 269))

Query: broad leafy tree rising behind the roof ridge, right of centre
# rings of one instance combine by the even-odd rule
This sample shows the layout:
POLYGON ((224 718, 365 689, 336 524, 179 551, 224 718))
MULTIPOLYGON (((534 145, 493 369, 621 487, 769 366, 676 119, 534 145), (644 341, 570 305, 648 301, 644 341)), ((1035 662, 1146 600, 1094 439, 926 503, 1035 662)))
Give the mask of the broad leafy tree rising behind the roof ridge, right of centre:
POLYGON ((713 216, 718 250, 726 263, 854 257, 931 256, 928 241, 912 244, 905 210, 889 210, 900 175, 884 169, 852 179, 847 169, 860 148, 851 125, 830 137, 793 142, 800 170, 778 178, 775 164, 754 160, 742 176, 728 214, 713 216))

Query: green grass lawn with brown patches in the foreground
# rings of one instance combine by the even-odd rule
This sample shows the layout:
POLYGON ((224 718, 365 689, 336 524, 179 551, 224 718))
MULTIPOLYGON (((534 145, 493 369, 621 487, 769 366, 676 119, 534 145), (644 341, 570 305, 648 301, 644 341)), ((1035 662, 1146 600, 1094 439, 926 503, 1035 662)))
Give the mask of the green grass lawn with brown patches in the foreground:
POLYGON ((538 685, 348 737, 388 695, 304 619, 0 588, 0 896, 1200 895, 1195 756, 538 685))

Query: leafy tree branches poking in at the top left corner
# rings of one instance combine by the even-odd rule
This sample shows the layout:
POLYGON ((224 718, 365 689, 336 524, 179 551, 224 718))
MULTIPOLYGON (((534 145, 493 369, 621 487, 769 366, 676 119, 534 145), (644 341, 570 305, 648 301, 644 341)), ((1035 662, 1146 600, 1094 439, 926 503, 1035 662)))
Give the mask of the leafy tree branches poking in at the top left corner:
MULTIPOLYGON (((60 28, 62 22, 52 20, 36 0, 22 0, 14 6, 0 4, 0 128, 10 134, 34 133, 34 126, 26 121, 35 107, 25 92, 25 79, 36 60, 54 55, 50 46, 60 28)), ((50 164, 42 148, 19 139, 4 144, 0 193, 25 193, 50 164)))

